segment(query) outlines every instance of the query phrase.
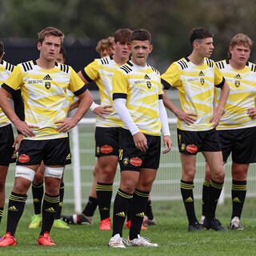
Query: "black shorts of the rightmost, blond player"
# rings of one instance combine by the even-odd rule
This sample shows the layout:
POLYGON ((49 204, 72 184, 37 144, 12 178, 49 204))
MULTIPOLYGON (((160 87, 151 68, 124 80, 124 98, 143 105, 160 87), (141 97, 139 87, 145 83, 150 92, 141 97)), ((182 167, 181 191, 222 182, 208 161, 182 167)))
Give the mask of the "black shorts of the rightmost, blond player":
POLYGON ((232 152, 232 161, 240 164, 256 162, 256 127, 218 130, 222 142, 223 161, 232 152))

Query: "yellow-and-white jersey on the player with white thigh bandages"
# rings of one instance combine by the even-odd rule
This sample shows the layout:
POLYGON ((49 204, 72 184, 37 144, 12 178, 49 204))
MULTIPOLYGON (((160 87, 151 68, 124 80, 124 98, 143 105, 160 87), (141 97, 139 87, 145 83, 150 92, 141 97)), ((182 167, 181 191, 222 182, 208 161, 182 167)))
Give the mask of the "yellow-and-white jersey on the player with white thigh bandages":
POLYGON ((25 121, 39 127, 34 130, 35 137, 25 138, 30 140, 67 137, 56 130, 59 124, 54 124, 66 118, 66 90, 78 96, 87 88, 70 66, 56 62, 53 69, 43 70, 36 61, 18 64, 2 87, 10 93, 21 88, 25 121))

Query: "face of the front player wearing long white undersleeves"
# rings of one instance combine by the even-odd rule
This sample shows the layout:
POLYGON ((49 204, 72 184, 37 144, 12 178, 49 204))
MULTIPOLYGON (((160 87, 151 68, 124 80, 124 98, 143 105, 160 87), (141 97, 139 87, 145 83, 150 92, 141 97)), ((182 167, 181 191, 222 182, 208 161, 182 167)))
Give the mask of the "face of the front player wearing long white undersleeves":
POLYGON ((133 40, 130 44, 132 61, 138 66, 146 65, 146 58, 153 49, 153 46, 150 45, 150 41, 139 41, 133 40))

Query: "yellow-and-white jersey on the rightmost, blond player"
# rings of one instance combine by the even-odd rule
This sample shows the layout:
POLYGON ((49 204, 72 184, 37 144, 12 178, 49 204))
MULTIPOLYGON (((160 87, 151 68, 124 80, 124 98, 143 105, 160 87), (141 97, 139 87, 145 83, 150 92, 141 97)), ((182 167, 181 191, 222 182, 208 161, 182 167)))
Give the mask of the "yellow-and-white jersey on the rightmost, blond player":
MULTIPOLYGON (((218 130, 239 129, 256 126, 256 120, 250 118, 247 110, 255 107, 256 66, 247 62, 242 70, 234 70, 229 60, 216 62, 226 82, 230 85, 230 94, 226 100, 225 112, 217 126, 218 130)), ((218 103, 220 90, 215 90, 215 102, 218 103)))

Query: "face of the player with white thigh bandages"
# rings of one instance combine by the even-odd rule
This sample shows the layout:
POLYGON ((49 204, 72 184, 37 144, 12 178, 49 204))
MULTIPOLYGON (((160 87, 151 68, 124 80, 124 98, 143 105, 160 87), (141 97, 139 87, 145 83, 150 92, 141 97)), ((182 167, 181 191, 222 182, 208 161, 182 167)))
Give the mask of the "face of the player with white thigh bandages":
POLYGON ((38 50, 40 57, 47 62, 55 61, 61 49, 61 38, 54 35, 46 36, 43 42, 38 42, 38 50))

